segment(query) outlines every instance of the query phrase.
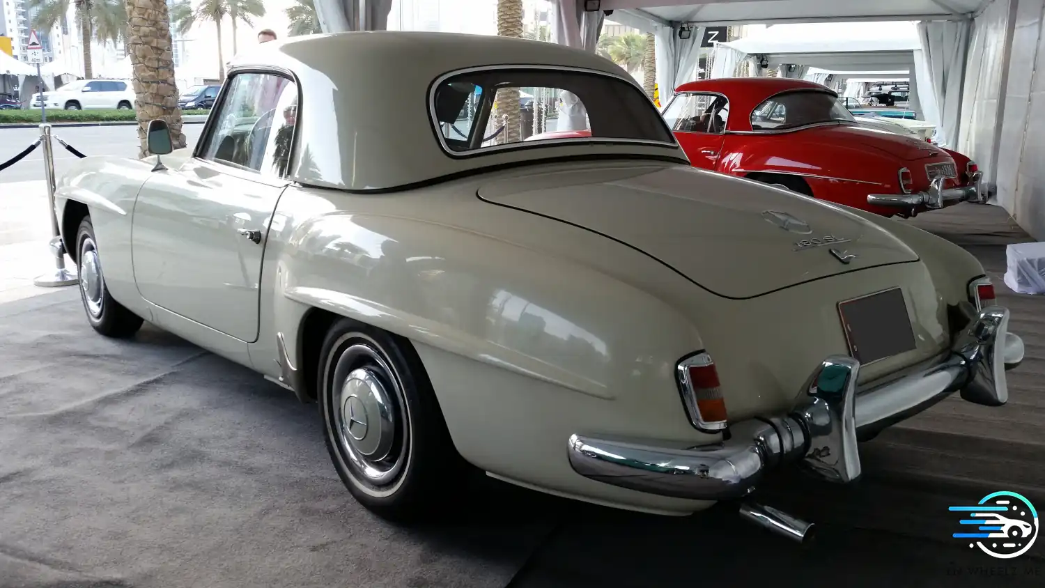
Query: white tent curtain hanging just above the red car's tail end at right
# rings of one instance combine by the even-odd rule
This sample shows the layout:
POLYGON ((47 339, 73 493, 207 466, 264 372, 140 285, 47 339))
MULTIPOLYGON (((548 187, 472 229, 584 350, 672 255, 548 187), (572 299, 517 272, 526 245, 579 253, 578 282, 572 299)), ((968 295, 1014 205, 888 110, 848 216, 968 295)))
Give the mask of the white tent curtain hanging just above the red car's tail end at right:
POLYGON ((936 139, 945 146, 954 145, 958 136, 969 31, 968 21, 918 23, 921 51, 914 51, 914 77, 919 101, 923 118, 936 124, 936 139))

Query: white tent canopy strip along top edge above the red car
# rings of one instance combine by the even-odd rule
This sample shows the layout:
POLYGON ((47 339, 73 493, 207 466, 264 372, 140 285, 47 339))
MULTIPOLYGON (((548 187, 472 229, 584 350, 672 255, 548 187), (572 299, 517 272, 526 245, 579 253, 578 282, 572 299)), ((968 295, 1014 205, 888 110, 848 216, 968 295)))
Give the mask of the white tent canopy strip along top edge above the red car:
POLYGON ((701 24, 930 21, 972 17, 991 0, 601 0, 663 23, 701 24))

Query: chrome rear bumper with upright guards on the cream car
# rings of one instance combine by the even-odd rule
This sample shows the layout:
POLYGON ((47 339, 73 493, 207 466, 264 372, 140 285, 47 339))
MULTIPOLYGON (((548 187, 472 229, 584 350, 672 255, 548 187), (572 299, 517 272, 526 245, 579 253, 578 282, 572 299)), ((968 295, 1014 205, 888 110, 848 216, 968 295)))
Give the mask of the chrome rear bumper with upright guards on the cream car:
POLYGON ((984 406, 1008 400, 1005 370, 1023 360, 1023 340, 1008 332, 1008 309, 984 308, 951 350, 913 373, 856 389, 860 362, 825 359, 803 387, 799 409, 729 426, 729 440, 697 447, 649 440, 570 438, 570 464, 587 478, 664 496, 739 498, 763 474, 796 463, 815 475, 849 483, 860 475, 857 433, 874 432, 959 392, 984 406))

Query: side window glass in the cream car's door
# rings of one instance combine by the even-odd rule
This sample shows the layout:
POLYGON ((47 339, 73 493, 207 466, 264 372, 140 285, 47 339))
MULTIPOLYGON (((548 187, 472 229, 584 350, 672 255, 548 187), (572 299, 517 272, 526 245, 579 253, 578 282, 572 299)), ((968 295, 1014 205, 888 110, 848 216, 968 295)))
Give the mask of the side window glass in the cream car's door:
POLYGON ((297 86, 274 73, 240 73, 228 81, 201 157, 282 175, 297 123, 297 86))

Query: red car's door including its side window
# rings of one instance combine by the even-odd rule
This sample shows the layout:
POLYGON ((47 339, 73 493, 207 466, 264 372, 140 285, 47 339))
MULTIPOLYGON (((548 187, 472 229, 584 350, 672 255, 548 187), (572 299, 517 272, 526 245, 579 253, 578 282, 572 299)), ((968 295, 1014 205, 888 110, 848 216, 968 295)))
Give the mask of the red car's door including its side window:
POLYGON ((676 94, 664 111, 675 139, 695 167, 715 169, 729 119, 729 100, 721 94, 676 94))

